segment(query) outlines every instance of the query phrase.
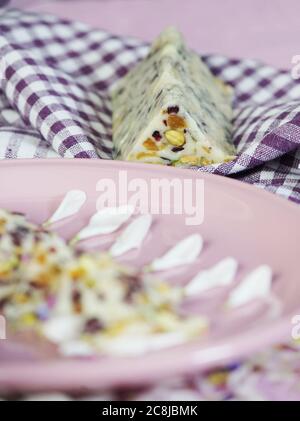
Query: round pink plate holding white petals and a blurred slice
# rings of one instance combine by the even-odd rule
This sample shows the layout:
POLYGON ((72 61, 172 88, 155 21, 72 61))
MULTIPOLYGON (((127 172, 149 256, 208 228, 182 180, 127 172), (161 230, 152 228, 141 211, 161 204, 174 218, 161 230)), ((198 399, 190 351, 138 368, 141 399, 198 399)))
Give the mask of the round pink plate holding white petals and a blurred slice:
MULTIPOLYGON (((170 282, 186 282, 201 268, 223 257, 240 263, 238 278, 257 265, 268 264, 274 272, 272 291, 281 304, 280 313, 270 315, 261 302, 225 311, 228 291, 211 290, 198 303, 197 311, 208 311, 211 330, 204 339, 139 357, 93 359, 38 358, 32 350, 0 341, 0 389, 91 390, 136 386, 178 374, 188 374, 233 362, 275 342, 291 339, 291 318, 300 310, 299 208, 271 193, 228 178, 191 170, 98 160, 18 160, 0 164, 0 207, 25 212, 34 222, 53 213, 70 189, 84 190, 88 201, 77 217, 58 226, 66 238, 78 232, 96 210, 99 180, 118 185, 120 171, 128 181, 204 180, 204 221, 186 225, 185 215, 154 215, 154 225, 143 246, 129 252, 123 261, 137 266, 162 255, 185 236, 199 232, 204 238, 200 257, 188 266, 170 271, 170 282), (29 355, 28 355, 29 353, 29 355)), ((164 200, 167 198, 164 197, 164 200)), ((172 206, 171 206, 172 208, 172 206)), ((172 209, 171 209, 172 210, 172 209)), ((88 247, 106 243, 87 242, 88 247)))

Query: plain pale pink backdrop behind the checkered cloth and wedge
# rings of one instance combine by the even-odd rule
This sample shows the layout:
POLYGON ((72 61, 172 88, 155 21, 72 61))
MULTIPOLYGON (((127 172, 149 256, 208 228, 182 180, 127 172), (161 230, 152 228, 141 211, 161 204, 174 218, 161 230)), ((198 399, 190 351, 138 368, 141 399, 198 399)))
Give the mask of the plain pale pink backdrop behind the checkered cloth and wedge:
POLYGON ((299 0, 11 0, 12 5, 79 19, 151 40, 178 26, 199 52, 251 57, 289 68, 300 54, 299 0))

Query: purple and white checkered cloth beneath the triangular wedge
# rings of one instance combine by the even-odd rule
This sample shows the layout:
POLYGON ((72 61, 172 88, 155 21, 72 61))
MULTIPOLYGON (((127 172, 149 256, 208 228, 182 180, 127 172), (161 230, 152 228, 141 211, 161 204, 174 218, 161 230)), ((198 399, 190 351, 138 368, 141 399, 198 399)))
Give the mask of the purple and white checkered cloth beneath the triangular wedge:
MULTIPOLYGON (((0 158, 104 158, 109 88, 148 45, 49 15, 0 12, 0 158)), ((253 60, 204 56, 235 90, 232 175, 300 202, 300 81, 253 60)))

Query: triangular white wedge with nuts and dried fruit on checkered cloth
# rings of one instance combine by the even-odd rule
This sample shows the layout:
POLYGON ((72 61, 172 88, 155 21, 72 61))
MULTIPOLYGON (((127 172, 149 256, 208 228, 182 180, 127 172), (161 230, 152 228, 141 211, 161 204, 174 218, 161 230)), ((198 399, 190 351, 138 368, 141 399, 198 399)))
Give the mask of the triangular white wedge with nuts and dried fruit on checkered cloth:
POLYGON ((115 158, 167 165, 230 161, 232 88, 166 29, 113 89, 115 158))

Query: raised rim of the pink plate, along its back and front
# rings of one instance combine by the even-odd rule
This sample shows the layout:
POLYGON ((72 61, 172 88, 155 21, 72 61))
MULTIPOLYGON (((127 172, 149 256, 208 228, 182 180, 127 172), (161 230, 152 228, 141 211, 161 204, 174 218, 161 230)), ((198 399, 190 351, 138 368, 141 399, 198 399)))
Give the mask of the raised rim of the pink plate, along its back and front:
MULTIPOLYGON (((63 165, 81 166, 99 165, 101 167, 116 167, 118 170, 136 169, 139 171, 147 169, 149 164, 127 163, 111 160, 96 159, 21 159, 4 161, 0 163, 0 170, 3 167, 26 167, 42 165, 63 165)), ((189 177, 196 177, 196 171, 191 173, 189 169, 175 169, 169 167, 155 167, 153 174, 167 176, 184 174, 189 177)), ((273 193, 263 191, 246 183, 229 179, 223 176, 200 172, 203 179, 209 179, 225 186, 231 185, 235 189, 248 190, 249 194, 259 195, 264 200, 272 200, 274 205, 278 204, 297 209, 300 217, 299 207, 286 199, 276 196, 273 193)), ((231 337, 231 340, 214 341, 213 344, 205 343, 204 346, 198 342, 193 342, 183 346, 167 349, 151 354, 146 354, 136 358, 116 358, 108 357, 103 359, 95 358, 90 360, 66 360, 66 361, 35 361, 35 362, 5 362, 0 363, 0 390, 95 390, 97 388, 128 387, 141 384, 149 384, 153 381, 172 377, 179 374, 192 374, 195 371, 201 372, 216 365, 232 362, 232 348, 238 349, 238 358, 242 359, 246 355, 259 348, 278 343, 291 338, 290 326, 291 317, 295 314, 285 315, 275 320, 265 331, 251 328, 242 334, 231 337), (253 338, 255 332, 256 340, 253 338), (258 340, 259 339, 259 340, 258 340), (157 358, 159 355, 159 358, 157 358), (112 367, 113 365, 113 367, 112 367), (62 375, 63 373, 63 375, 62 375)), ((235 354, 234 360, 237 360, 235 354)))

